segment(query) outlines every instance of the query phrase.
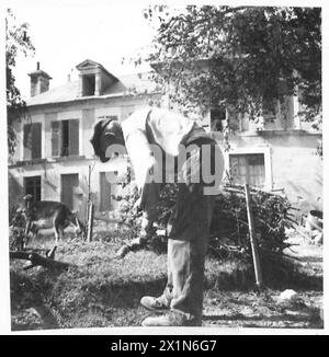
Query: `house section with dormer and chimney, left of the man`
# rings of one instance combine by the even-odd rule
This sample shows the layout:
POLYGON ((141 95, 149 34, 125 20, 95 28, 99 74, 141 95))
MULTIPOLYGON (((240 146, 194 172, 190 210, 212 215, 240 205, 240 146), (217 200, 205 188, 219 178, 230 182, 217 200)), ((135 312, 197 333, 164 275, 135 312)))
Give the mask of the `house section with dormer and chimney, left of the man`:
POLYGON ((102 65, 84 60, 77 81, 49 90, 49 74, 37 67, 31 77, 30 118, 16 123, 18 146, 9 164, 9 200, 60 200, 83 217, 89 193, 95 210, 115 209, 115 185, 106 164, 94 157, 90 138, 101 117, 124 120, 159 94, 148 73, 116 78, 102 65))

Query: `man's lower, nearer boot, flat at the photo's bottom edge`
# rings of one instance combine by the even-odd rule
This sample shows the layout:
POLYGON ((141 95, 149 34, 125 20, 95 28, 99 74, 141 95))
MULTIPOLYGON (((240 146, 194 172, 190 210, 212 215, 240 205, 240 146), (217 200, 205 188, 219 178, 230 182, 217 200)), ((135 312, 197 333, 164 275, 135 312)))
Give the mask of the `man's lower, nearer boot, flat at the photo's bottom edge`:
POLYGON ((146 318, 141 322, 141 326, 201 326, 201 323, 196 323, 195 319, 190 314, 171 310, 160 316, 146 318))

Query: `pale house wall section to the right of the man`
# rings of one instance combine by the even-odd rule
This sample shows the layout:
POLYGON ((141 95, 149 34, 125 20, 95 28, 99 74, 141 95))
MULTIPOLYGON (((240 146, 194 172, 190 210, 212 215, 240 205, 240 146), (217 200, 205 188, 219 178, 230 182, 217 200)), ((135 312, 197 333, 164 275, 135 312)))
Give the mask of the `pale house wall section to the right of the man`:
POLYGON ((229 111, 211 112, 212 136, 223 142, 227 119, 235 130, 224 151, 226 172, 237 184, 249 183, 265 191, 282 191, 297 208, 296 216, 311 209, 322 210, 322 159, 318 154, 322 135, 300 118, 297 96, 277 103, 258 123, 229 111))

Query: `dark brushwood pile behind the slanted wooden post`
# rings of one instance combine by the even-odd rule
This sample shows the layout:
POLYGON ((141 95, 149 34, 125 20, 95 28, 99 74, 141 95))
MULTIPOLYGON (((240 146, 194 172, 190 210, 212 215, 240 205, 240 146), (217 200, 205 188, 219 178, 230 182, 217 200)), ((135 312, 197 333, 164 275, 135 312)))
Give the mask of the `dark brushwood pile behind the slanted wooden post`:
MULTIPOLYGON (((251 256, 247 205, 243 191, 217 196, 212 222, 211 251, 220 257, 230 254, 251 256)), ((293 227, 293 207, 283 195, 263 191, 251 192, 251 211, 261 254, 279 253, 290 246, 286 228, 293 227)))

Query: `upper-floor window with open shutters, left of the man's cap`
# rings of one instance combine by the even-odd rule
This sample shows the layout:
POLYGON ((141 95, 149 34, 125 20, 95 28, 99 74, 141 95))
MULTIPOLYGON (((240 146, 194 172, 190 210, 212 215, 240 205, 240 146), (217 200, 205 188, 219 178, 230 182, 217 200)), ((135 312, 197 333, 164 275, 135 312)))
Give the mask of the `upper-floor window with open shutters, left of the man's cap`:
POLYGON ((52 156, 79 154, 79 119, 52 122, 52 156))

